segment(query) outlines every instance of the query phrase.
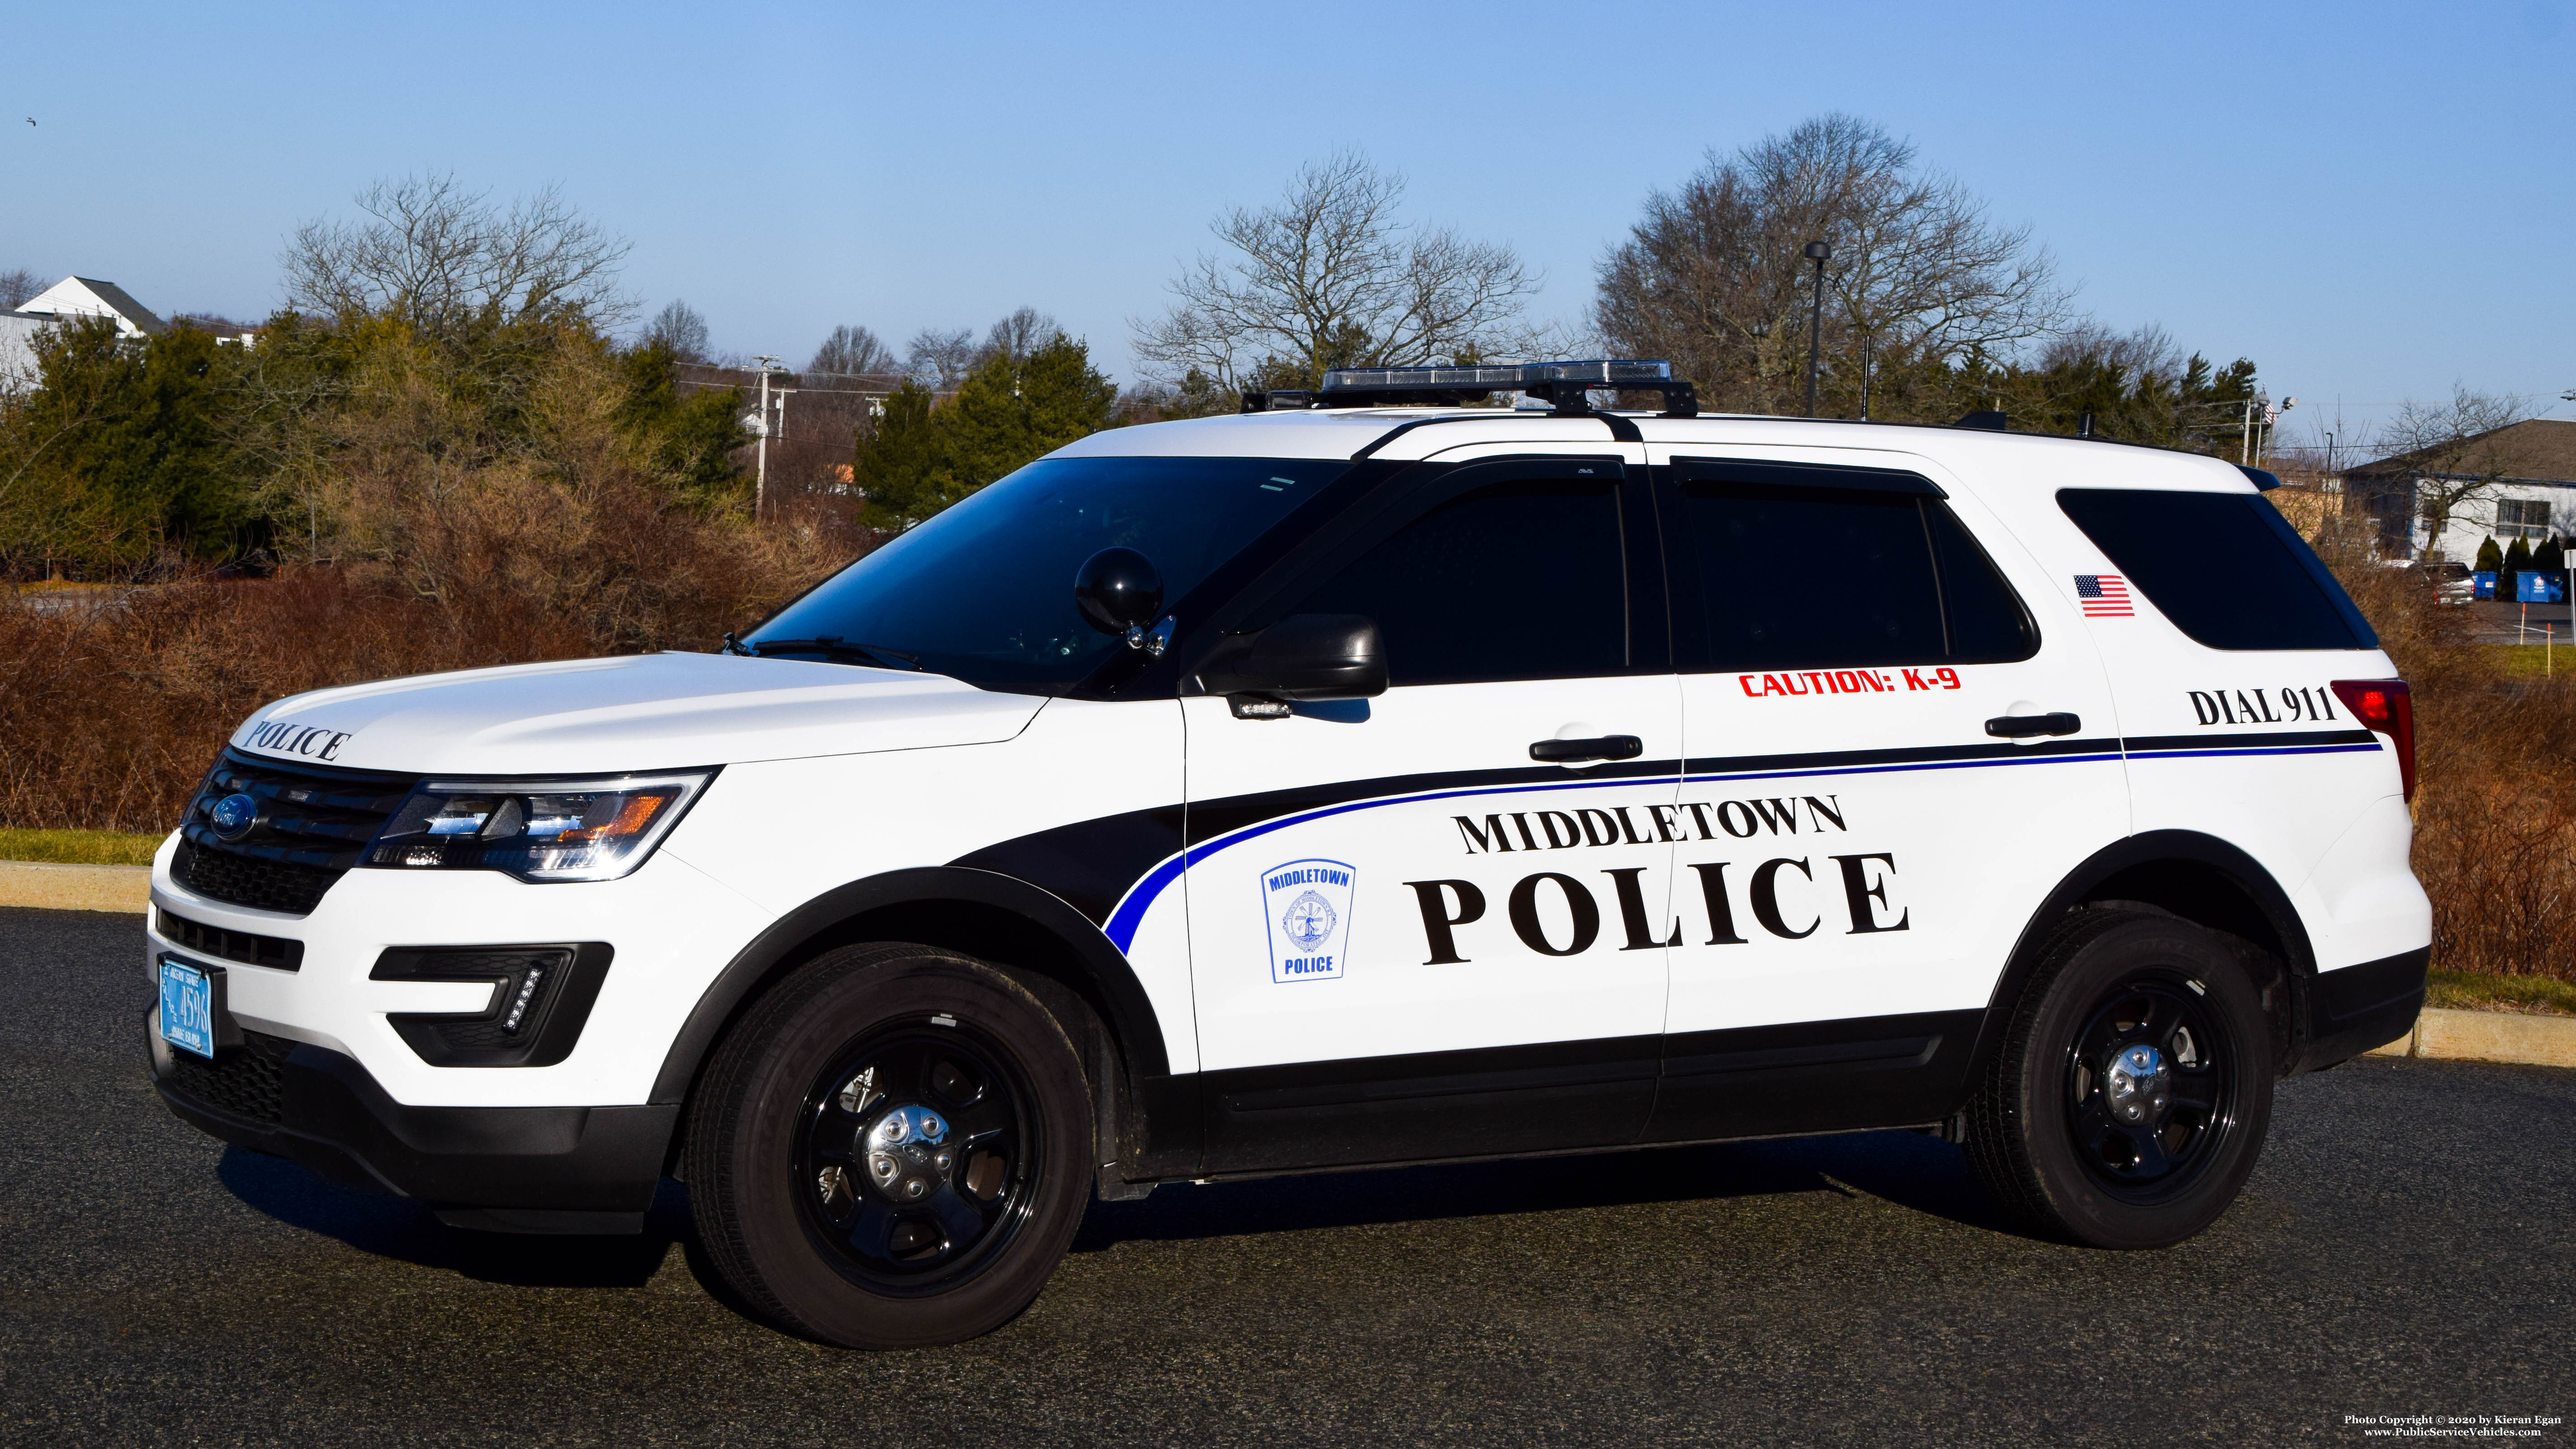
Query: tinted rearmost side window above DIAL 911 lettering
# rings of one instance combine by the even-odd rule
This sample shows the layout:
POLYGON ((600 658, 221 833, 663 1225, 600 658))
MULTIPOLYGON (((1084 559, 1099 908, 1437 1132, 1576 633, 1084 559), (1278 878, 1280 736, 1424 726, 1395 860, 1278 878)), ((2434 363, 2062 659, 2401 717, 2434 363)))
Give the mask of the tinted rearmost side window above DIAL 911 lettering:
POLYGON ((2380 637, 2251 492, 2066 487, 2058 508, 2177 629, 2213 650, 2370 650, 2380 637))

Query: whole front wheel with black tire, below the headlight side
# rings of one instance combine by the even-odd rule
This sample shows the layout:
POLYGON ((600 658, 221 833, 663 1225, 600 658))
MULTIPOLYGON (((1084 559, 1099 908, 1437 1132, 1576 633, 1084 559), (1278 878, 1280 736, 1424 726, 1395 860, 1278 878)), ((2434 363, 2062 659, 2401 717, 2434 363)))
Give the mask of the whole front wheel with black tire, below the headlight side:
POLYGON ((1090 1122, 1064 1024, 1010 975, 842 946, 716 1049, 683 1165, 706 1256, 755 1312, 920 1348, 1038 1297, 1082 1222, 1090 1122))

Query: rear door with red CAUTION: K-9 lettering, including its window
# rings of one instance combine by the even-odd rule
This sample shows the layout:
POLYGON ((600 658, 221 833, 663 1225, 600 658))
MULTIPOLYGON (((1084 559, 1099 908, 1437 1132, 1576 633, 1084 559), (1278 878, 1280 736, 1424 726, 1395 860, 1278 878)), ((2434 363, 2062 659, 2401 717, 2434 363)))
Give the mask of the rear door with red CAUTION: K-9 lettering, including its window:
POLYGON ((2032 910, 2128 828, 2092 639, 1924 459, 1654 451, 1687 841, 1651 1137, 1932 1119, 2032 910))

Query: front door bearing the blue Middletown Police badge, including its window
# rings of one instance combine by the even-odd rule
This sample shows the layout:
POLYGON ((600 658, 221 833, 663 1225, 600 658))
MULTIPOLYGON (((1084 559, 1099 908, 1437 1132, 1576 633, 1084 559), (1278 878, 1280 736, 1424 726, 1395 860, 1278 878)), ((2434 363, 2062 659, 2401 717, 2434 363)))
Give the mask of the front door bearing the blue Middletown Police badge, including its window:
POLYGON ((1682 737, 1636 462, 1417 464, 1247 619, 1373 619, 1388 691, 1182 701, 1211 1173, 1643 1129, 1682 737))

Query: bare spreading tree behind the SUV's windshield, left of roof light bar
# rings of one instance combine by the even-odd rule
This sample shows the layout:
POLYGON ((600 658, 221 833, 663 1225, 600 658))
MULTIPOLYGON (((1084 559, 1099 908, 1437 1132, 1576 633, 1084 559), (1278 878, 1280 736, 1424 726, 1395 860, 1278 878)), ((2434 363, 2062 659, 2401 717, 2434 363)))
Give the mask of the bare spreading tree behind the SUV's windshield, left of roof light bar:
POLYGON ((1538 276, 1499 242, 1396 217, 1404 178, 1360 152, 1306 165, 1273 206, 1213 222, 1162 320, 1131 320, 1136 356, 1164 382, 1193 369, 1236 389, 1257 371, 1321 382, 1332 366, 1414 366, 1492 351, 1538 276))

